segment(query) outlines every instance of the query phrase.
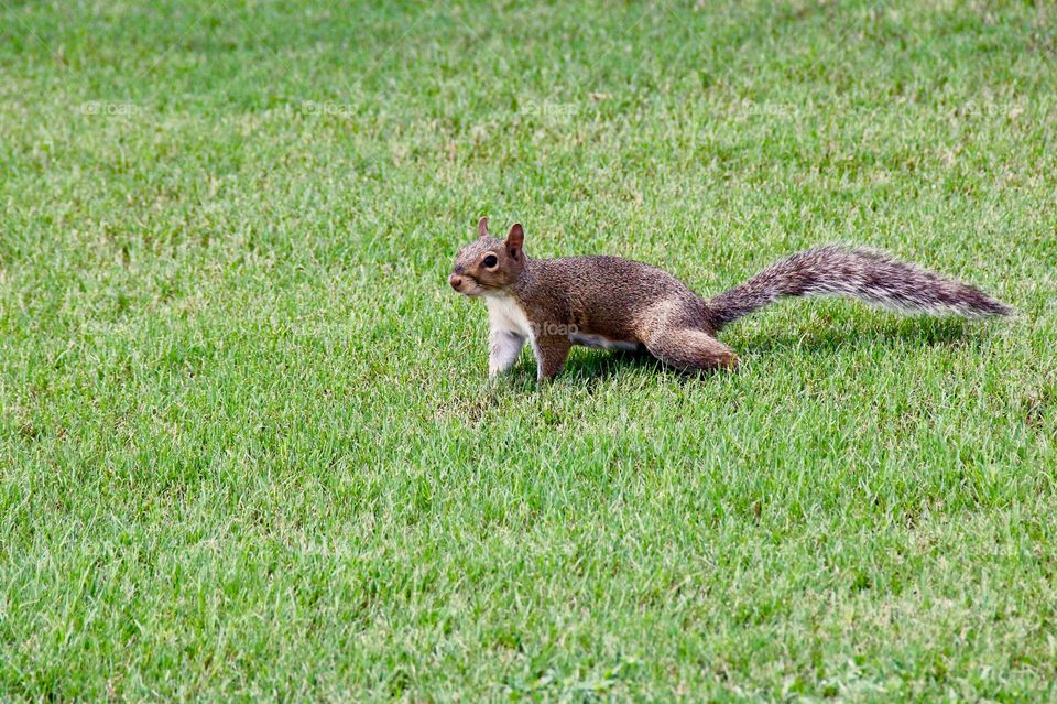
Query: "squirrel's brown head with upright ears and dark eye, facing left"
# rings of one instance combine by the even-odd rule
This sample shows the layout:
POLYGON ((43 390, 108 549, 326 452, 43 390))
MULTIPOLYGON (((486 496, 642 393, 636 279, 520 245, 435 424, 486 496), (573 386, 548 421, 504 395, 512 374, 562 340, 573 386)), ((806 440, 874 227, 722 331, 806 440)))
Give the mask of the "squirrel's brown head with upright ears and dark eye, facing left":
POLYGON ((503 240, 488 234, 488 218, 482 217, 477 224, 477 239, 455 256, 448 283, 462 295, 502 293, 525 270, 524 241, 525 230, 520 223, 510 228, 503 240))

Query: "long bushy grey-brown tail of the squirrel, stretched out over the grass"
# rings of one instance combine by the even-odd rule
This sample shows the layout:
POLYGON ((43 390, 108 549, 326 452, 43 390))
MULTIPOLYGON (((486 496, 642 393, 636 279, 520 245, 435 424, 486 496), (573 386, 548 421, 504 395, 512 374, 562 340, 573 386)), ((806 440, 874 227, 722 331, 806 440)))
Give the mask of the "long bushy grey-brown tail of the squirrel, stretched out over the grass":
POLYGON ((1013 308, 979 289, 869 249, 810 249, 707 303, 719 329, 783 296, 844 295, 905 313, 983 317, 1013 308))

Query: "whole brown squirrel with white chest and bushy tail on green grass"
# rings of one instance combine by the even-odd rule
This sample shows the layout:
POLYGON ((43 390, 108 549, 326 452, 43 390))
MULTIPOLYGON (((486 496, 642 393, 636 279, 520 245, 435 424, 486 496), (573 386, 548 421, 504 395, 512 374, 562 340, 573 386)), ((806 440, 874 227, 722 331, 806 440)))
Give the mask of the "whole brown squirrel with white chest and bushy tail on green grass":
POLYGON ((668 272, 620 257, 530 259, 520 223, 501 240, 482 217, 477 232, 456 256, 448 283, 488 304, 490 377, 510 369, 526 340, 538 381, 562 371, 573 345, 647 351, 686 372, 734 369, 738 356, 716 334, 784 296, 841 295, 933 315, 1013 313, 979 289, 870 249, 802 251, 701 299, 668 272))

